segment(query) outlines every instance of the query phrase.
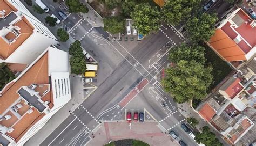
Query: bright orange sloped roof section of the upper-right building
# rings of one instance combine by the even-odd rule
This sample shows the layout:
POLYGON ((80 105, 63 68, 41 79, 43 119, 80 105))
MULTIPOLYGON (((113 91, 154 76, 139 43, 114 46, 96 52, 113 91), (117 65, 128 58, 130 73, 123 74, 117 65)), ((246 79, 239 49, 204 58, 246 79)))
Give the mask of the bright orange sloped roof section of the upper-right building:
POLYGON ((227 61, 246 60, 242 49, 221 29, 215 31, 209 43, 227 61))

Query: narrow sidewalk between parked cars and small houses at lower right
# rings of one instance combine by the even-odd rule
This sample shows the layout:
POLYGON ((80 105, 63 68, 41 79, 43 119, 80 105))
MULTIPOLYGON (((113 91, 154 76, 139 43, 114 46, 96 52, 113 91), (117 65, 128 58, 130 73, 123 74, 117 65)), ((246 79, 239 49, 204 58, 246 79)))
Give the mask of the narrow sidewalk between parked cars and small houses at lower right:
POLYGON ((204 127, 204 126, 208 126, 210 129, 211 129, 211 132, 215 133, 216 134, 216 137, 219 139, 219 141, 221 143, 223 143, 223 145, 228 145, 226 143, 226 141, 223 140, 223 138, 221 137, 220 133, 213 129, 212 126, 210 126, 208 124, 208 122, 206 122, 205 120, 201 119, 200 116, 198 115, 197 112, 195 112, 188 103, 182 103, 182 104, 178 104, 177 103, 177 106, 178 106, 178 111, 183 115, 185 116, 186 118, 188 117, 193 117, 193 118, 196 118, 198 120, 198 125, 196 126, 196 128, 201 131, 200 128, 204 127))

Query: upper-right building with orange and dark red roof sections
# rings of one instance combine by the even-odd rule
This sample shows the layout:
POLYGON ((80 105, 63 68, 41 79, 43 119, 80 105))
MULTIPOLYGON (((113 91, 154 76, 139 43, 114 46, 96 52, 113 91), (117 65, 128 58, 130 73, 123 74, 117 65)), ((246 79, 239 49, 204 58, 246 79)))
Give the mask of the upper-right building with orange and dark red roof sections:
POLYGON ((256 20, 235 8, 220 21, 207 43, 223 60, 239 68, 256 53, 256 20))

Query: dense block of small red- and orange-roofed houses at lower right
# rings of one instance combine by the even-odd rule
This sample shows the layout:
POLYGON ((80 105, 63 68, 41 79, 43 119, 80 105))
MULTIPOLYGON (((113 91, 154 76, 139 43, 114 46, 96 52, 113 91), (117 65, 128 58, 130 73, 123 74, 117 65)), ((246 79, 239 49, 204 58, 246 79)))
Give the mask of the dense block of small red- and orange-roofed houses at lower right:
MULTIPOLYGON (((236 144, 255 126, 255 72, 256 59, 253 58, 197 108, 201 118, 218 130, 230 144, 236 144)), ((250 137, 255 138, 256 134, 252 134, 250 137)))

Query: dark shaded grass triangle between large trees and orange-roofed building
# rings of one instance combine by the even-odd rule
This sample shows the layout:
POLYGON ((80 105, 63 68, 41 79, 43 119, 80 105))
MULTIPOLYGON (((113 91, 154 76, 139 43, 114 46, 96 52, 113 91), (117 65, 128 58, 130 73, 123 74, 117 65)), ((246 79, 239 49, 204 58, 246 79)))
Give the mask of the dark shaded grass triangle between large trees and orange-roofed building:
POLYGON ((214 89, 230 72, 233 70, 230 65, 228 65, 225 61, 220 59, 220 57, 207 45, 205 47, 205 58, 206 64, 212 66, 212 75, 213 75, 213 83, 210 85, 208 89, 208 93, 214 89))

